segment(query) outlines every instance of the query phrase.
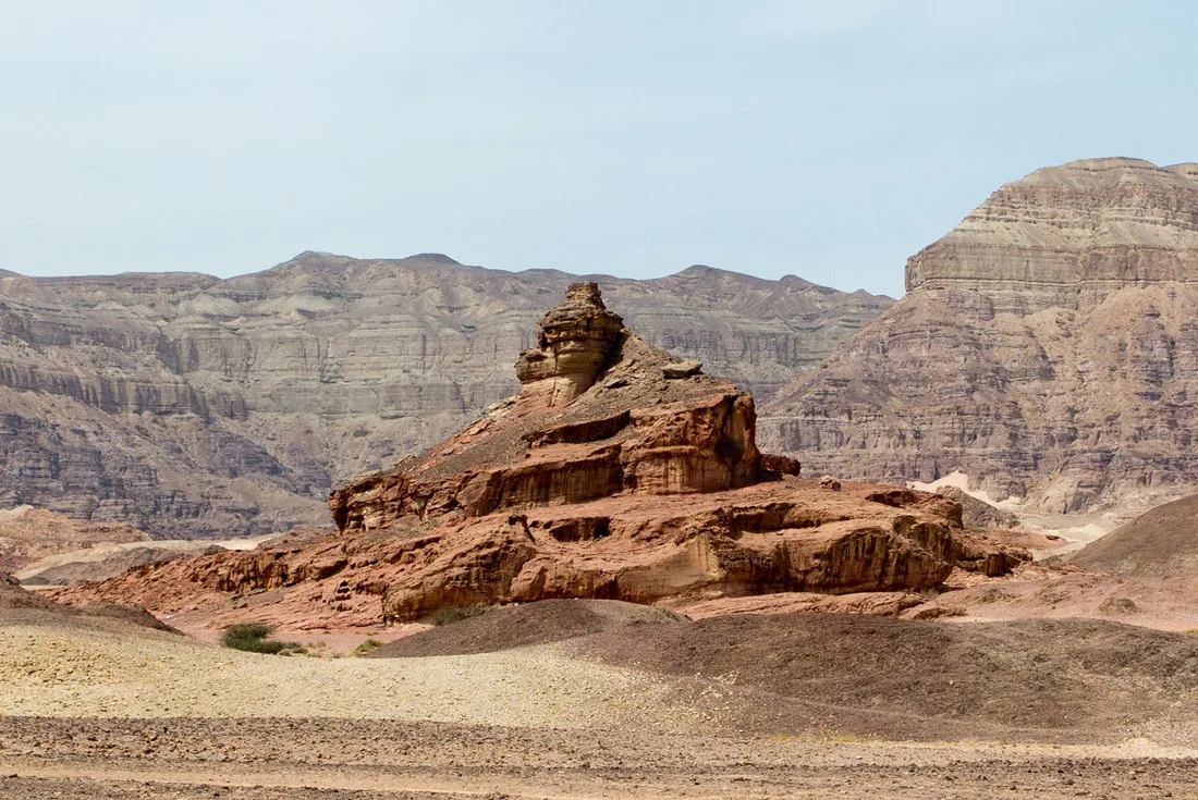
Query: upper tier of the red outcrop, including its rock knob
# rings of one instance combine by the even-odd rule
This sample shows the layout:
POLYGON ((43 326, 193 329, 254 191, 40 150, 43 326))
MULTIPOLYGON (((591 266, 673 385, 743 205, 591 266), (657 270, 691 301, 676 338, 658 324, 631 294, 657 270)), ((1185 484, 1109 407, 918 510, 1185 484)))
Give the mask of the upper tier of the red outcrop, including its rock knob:
POLYGON ((343 531, 404 517, 478 517, 621 492, 685 495, 798 474, 763 459, 752 398, 627 331, 595 284, 575 284, 525 351, 524 388, 467 430, 329 497, 343 531))

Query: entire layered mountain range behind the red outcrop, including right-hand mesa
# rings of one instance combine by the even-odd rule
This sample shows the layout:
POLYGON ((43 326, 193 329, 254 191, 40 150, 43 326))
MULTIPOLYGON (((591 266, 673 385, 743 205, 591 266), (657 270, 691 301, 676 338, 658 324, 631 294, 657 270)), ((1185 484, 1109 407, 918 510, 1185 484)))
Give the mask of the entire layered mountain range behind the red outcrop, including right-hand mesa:
MULTIPOLYGON (((0 277, 0 508, 155 535, 327 521, 325 497, 512 394, 577 277, 303 253, 250 275, 0 277)), ((1198 486, 1198 165, 999 188, 898 302, 690 267, 591 277, 649 343, 757 399, 807 474, 1073 511, 1198 486)))

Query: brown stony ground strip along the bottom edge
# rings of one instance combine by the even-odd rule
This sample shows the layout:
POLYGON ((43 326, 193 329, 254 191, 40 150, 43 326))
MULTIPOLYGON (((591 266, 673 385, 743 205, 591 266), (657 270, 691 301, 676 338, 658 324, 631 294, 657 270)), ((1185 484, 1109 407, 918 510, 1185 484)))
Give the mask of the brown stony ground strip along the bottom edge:
POLYGON ((1190 798, 1198 760, 1053 749, 448 723, 0 721, 0 795, 42 798, 1190 798))

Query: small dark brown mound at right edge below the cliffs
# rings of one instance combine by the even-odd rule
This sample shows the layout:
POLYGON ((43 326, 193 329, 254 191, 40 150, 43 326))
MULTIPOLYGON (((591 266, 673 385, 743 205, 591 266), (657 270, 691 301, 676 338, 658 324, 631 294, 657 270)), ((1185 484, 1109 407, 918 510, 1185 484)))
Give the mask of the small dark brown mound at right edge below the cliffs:
POLYGON ((1090 569, 1198 580, 1198 495, 1158 505, 1073 554, 1090 569))

